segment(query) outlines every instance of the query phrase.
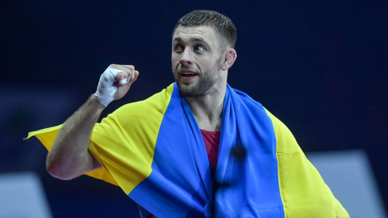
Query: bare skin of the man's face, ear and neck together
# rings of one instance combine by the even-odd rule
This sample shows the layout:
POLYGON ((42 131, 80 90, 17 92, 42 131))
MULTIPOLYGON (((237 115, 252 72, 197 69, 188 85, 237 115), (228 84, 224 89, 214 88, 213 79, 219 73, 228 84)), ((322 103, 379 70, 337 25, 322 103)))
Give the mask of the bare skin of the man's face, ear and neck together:
POLYGON ((171 55, 174 78, 200 129, 221 129, 227 72, 236 58, 236 51, 222 47, 222 36, 211 27, 178 27, 174 32, 171 55), (198 75, 190 81, 184 80, 181 73, 185 70, 198 75), (210 84, 202 85, 204 80, 210 80, 210 84))

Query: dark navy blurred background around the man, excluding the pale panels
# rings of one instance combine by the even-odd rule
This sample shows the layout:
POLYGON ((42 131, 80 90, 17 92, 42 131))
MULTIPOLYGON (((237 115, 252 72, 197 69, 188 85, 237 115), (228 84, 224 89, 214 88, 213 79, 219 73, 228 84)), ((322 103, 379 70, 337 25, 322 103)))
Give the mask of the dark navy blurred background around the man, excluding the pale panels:
MULTIPOLYGON (((102 117, 173 83, 171 34, 181 16, 197 9, 218 11, 237 28, 228 83, 285 123, 311 156, 360 152, 371 166, 375 199, 388 208, 386 0, 14 0, 0 6, 0 178, 35 175, 50 216, 139 217, 119 187, 88 176, 49 176, 44 146, 23 138, 62 124, 96 92, 111 63, 132 64, 140 76, 102 117)), ((355 179, 351 172, 344 183, 355 179)), ((337 189, 336 197, 343 190, 337 189)), ((364 198, 362 192, 353 197, 364 198)))

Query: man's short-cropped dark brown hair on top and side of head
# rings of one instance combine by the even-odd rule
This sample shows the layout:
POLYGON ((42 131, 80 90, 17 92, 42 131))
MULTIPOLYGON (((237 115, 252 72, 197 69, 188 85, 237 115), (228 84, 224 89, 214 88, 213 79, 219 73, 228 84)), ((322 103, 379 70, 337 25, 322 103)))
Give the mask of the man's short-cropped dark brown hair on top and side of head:
POLYGON ((174 27, 173 35, 179 26, 209 26, 218 31, 225 38, 228 46, 234 48, 236 44, 236 27, 233 25, 229 17, 215 11, 198 10, 190 12, 178 20, 177 25, 174 27))

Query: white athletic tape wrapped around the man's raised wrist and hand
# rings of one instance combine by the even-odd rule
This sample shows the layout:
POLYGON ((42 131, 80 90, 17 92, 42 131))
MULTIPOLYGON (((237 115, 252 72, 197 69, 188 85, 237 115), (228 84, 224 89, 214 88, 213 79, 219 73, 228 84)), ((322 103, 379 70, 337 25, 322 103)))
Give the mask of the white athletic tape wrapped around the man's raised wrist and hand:
MULTIPOLYGON (((98 82, 97 91, 94 94, 97 96, 98 101, 102 105, 108 106, 108 104, 114 100, 113 95, 117 92, 117 87, 114 86, 114 78, 116 78, 117 74, 121 72, 124 71, 118 70, 109 65, 104 73, 102 73, 100 81, 98 82)), ((121 79, 119 83, 125 84, 122 83, 124 80, 125 83, 127 83, 127 79, 121 79)))

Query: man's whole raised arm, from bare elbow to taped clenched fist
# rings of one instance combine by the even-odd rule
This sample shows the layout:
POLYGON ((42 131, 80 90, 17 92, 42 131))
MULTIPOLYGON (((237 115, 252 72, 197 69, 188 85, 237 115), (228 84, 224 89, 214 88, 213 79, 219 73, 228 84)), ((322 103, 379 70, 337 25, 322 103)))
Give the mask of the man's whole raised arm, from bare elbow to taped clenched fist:
POLYGON ((52 145, 46 160, 52 176, 67 180, 101 167, 88 152, 93 127, 102 110, 114 99, 123 97, 138 75, 132 65, 116 64, 101 75, 96 94, 65 121, 52 145), (124 79, 127 83, 120 84, 124 79))

